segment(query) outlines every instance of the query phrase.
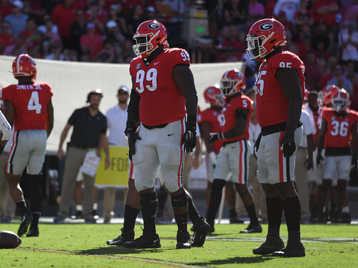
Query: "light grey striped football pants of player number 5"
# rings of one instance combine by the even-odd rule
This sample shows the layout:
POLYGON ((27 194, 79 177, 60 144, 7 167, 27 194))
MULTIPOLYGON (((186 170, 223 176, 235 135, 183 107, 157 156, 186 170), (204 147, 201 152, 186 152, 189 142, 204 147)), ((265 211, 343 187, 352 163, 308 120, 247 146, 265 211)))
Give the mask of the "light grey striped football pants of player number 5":
POLYGON ((251 144, 246 139, 223 145, 218 155, 214 179, 246 184, 250 152, 251 144))

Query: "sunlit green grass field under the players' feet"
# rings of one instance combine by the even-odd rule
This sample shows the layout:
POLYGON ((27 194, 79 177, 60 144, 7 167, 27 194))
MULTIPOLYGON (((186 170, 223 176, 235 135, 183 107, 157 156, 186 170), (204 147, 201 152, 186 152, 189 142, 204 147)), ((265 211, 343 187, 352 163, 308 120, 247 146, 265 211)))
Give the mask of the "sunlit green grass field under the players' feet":
MULTIPOLYGON (((18 223, 0 224, 0 230, 17 232, 18 223)), ((301 225, 306 248, 303 258, 257 256, 252 249, 266 237, 240 234, 244 224, 216 224, 201 248, 175 249, 176 225, 157 225, 159 249, 125 249, 106 241, 120 234, 119 224, 40 224, 40 236, 22 237, 16 249, 0 249, 0 267, 356 267, 357 225, 301 225), (288 266, 287 266, 288 265, 288 266)), ((188 225, 190 228, 190 226, 188 225)), ((140 225, 135 228, 141 234, 140 225)), ((281 235, 287 239, 286 225, 281 235)))

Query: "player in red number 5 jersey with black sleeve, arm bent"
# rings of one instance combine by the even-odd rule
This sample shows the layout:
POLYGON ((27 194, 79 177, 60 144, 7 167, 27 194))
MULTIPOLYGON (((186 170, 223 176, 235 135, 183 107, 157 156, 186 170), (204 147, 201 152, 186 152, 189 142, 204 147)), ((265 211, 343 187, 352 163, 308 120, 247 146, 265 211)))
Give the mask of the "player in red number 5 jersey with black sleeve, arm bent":
POLYGON ((226 99, 219 116, 221 132, 210 133, 209 143, 223 140, 213 175, 207 221, 214 231, 214 219, 222 197, 222 189, 231 179, 250 217, 250 225, 240 233, 261 233, 251 192, 247 188, 248 159, 251 150, 248 142, 251 99, 242 95, 245 76, 238 69, 228 70, 221 78, 221 90, 226 99), (238 161, 237 161, 238 160, 238 161))

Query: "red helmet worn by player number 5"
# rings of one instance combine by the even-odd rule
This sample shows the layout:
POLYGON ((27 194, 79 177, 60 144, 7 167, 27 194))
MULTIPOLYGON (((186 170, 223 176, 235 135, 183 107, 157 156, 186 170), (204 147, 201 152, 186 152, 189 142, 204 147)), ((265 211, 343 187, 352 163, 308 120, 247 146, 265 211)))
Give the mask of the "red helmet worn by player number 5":
POLYGON ((227 70, 220 80, 224 96, 232 95, 245 89, 245 75, 238 69, 227 70))

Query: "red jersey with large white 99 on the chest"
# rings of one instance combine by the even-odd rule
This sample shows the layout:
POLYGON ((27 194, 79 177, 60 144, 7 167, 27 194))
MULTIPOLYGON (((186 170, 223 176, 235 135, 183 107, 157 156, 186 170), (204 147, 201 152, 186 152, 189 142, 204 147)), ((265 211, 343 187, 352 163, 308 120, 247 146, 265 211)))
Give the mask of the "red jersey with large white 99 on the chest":
POLYGON ((154 126, 185 117, 186 100, 172 74, 178 64, 190 66, 189 54, 184 49, 165 49, 149 64, 142 56, 131 61, 129 72, 140 96, 139 116, 143 124, 154 126))

